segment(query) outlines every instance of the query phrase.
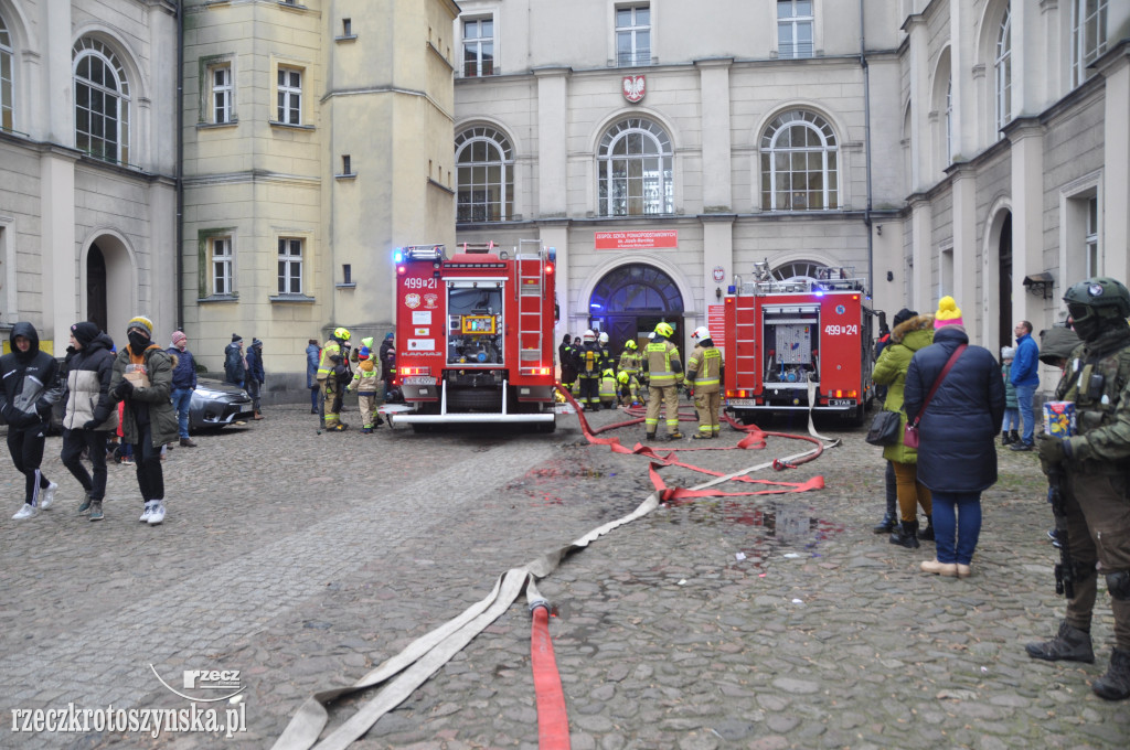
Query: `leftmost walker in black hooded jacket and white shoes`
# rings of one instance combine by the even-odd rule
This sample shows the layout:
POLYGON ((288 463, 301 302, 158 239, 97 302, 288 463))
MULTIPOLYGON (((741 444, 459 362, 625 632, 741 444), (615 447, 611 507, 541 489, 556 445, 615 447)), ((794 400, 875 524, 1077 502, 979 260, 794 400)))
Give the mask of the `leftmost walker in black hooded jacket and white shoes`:
POLYGON ((59 488, 49 481, 40 464, 46 442, 51 407, 62 395, 59 363, 40 351, 35 326, 20 321, 8 337, 11 352, 0 357, 0 415, 8 424, 8 452, 24 483, 24 507, 12 518, 33 518, 55 499, 59 488))

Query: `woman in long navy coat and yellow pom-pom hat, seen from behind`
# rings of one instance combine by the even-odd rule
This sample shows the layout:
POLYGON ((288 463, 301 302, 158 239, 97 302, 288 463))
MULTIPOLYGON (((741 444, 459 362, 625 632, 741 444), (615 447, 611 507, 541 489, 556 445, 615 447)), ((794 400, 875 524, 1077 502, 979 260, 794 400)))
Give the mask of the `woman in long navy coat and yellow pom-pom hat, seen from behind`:
POLYGON ((964 578, 972 573, 981 534, 981 492, 997 482, 993 441, 1005 416, 1005 384, 992 352, 967 346, 953 297, 938 304, 935 329, 933 343, 911 359, 903 402, 907 420, 921 416, 918 479, 933 495, 938 557, 922 562, 922 569, 964 578), (966 348, 923 411, 922 402, 962 345, 966 348))

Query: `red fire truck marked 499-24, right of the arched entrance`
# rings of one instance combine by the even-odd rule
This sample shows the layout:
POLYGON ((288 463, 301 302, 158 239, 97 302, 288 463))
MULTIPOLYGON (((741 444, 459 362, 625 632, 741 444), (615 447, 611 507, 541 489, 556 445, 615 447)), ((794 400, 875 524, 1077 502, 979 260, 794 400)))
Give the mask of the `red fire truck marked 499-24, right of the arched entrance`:
POLYGON ((734 276, 725 297, 727 409, 746 424, 810 405, 862 424, 875 395, 864 279, 823 268, 818 278, 780 280, 768 263, 754 265, 750 279, 734 276))

